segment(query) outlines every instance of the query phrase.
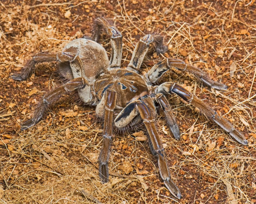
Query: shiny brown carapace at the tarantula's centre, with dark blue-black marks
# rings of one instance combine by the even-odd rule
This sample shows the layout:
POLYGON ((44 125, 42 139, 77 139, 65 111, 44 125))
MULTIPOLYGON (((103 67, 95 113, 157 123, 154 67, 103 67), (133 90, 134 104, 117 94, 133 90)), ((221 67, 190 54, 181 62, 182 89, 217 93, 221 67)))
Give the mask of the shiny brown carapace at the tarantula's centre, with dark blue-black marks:
POLYGON ((126 69, 112 69, 96 78, 94 91, 101 99, 107 89, 117 92, 117 107, 124 108, 133 101, 149 93, 144 79, 133 71, 126 69))

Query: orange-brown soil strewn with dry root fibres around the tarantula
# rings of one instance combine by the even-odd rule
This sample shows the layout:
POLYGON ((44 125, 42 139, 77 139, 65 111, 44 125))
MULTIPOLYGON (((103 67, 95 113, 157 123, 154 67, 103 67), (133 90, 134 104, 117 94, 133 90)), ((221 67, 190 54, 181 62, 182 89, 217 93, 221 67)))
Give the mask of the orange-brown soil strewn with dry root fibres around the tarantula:
MULTIPOLYGON (((255 0, 3 0, 0 10, 0 203, 256 203, 255 0), (71 96, 35 127, 19 131, 43 94, 61 80, 50 63, 37 66, 23 82, 10 79, 11 73, 33 53, 59 51, 67 41, 90 36, 93 19, 102 13, 123 35, 122 66, 144 33, 158 31, 169 50, 161 56, 150 51, 142 72, 164 57, 178 58, 229 86, 216 91, 175 70, 162 79, 185 84, 248 139, 247 146, 240 145, 194 107, 171 97, 181 139, 174 139, 162 113, 158 128, 181 200, 163 184, 143 129, 115 136, 112 176, 102 184, 97 169, 102 123, 94 107, 71 96)), ((110 54, 110 40, 104 39, 110 54)))

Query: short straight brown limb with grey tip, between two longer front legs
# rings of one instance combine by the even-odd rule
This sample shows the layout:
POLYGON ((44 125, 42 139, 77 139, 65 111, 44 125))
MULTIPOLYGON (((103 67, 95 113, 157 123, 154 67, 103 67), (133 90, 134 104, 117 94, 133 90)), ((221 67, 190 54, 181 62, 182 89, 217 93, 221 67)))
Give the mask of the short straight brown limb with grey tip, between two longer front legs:
POLYGON ((177 120, 171 110, 171 106, 166 99, 166 96, 162 93, 158 93, 155 95, 155 100, 160 104, 161 108, 163 109, 163 112, 165 113, 166 120, 168 125, 170 126, 171 132, 173 133, 174 137, 176 139, 179 139, 181 137, 179 133, 179 126, 177 123, 177 120))

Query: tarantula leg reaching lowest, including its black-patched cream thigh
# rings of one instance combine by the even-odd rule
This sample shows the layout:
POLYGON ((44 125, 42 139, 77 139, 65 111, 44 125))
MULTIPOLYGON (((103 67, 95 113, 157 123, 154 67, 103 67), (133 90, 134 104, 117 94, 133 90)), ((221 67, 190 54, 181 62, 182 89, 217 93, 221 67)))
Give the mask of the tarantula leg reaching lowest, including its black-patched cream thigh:
MULTIPOLYGON (((145 99, 145 102, 149 102, 149 100, 145 99)), ((166 155, 163 149, 161 139, 155 127, 155 110, 152 109, 151 103, 150 106, 148 106, 145 102, 141 100, 136 100, 129 103, 115 118, 114 124, 119 128, 124 127, 129 124, 129 122, 131 122, 138 113, 140 114, 150 136, 150 144, 152 144, 151 152, 154 155, 158 156, 158 166, 161 178, 163 179, 166 187, 171 192, 171 194, 173 194, 176 198, 180 199, 181 192, 170 178, 166 155)))

